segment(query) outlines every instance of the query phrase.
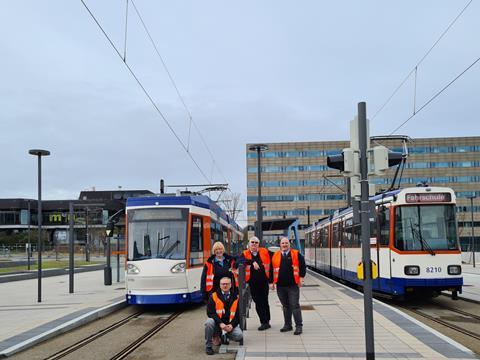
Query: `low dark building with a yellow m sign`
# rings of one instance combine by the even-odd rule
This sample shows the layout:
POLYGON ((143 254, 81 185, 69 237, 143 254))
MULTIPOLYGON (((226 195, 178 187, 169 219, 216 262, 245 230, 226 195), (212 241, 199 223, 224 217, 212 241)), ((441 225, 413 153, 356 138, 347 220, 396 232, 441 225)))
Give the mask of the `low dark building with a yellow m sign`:
MULTIPOLYGON (((105 225, 110 216, 125 208, 128 197, 152 195, 149 190, 82 191, 76 200, 42 200, 42 229, 48 246, 68 244, 69 207, 74 207, 74 241, 103 249, 105 225)), ((0 250, 24 246, 30 238, 36 247, 38 202, 36 199, 0 199, 0 250)), ((117 224, 124 226, 123 218, 117 224)), ((121 230, 120 230, 121 231, 121 230)))

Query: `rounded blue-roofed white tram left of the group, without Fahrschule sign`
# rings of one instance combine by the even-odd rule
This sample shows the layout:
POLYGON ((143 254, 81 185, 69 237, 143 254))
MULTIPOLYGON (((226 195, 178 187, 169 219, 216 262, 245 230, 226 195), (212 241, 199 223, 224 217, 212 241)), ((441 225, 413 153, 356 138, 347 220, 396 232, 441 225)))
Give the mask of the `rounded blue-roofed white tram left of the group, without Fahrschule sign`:
POLYGON ((203 195, 129 198, 126 224, 128 304, 200 302, 212 244, 243 249, 240 227, 203 195))

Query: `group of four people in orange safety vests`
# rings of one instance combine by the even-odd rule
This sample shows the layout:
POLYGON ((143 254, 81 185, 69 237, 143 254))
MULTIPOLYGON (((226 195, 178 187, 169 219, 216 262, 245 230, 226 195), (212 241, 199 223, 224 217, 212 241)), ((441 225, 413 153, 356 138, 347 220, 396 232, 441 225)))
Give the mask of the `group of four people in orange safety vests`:
POLYGON ((306 274, 305 259, 298 250, 290 247, 290 240, 280 239, 280 250, 272 253, 260 247, 260 240, 252 237, 248 248, 235 258, 225 253, 221 242, 213 244, 213 255, 205 262, 201 289, 207 302, 205 322, 206 353, 213 355, 213 345, 220 345, 220 336, 234 341, 243 338, 240 329, 238 309, 238 264, 245 264, 245 281, 248 283, 252 300, 260 320, 259 331, 270 326, 269 289, 277 289, 282 304, 284 325, 281 332, 292 331, 292 315, 295 335, 302 333, 302 312, 300 309, 300 287, 306 274))

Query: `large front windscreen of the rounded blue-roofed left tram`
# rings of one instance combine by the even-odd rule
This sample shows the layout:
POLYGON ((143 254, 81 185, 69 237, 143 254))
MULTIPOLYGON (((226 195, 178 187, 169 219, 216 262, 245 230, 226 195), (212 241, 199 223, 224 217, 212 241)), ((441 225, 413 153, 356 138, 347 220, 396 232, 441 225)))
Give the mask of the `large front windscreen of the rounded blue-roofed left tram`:
POLYGON ((185 259, 186 209, 128 211, 128 260, 185 259))

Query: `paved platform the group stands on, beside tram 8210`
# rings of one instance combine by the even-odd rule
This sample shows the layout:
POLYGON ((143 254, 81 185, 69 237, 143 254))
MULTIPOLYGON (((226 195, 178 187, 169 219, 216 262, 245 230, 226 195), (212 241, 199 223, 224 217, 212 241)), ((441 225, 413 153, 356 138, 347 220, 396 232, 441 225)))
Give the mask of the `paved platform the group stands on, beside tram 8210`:
MULTIPOLYGON (((280 333, 283 314, 276 292, 270 292, 271 329, 257 330, 259 322, 252 306, 237 359, 365 358, 362 294, 309 272, 300 304, 305 307, 300 336, 280 333)), ((378 301, 374 301, 374 327, 376 359, 477 358, 464 346, 378 301)))

